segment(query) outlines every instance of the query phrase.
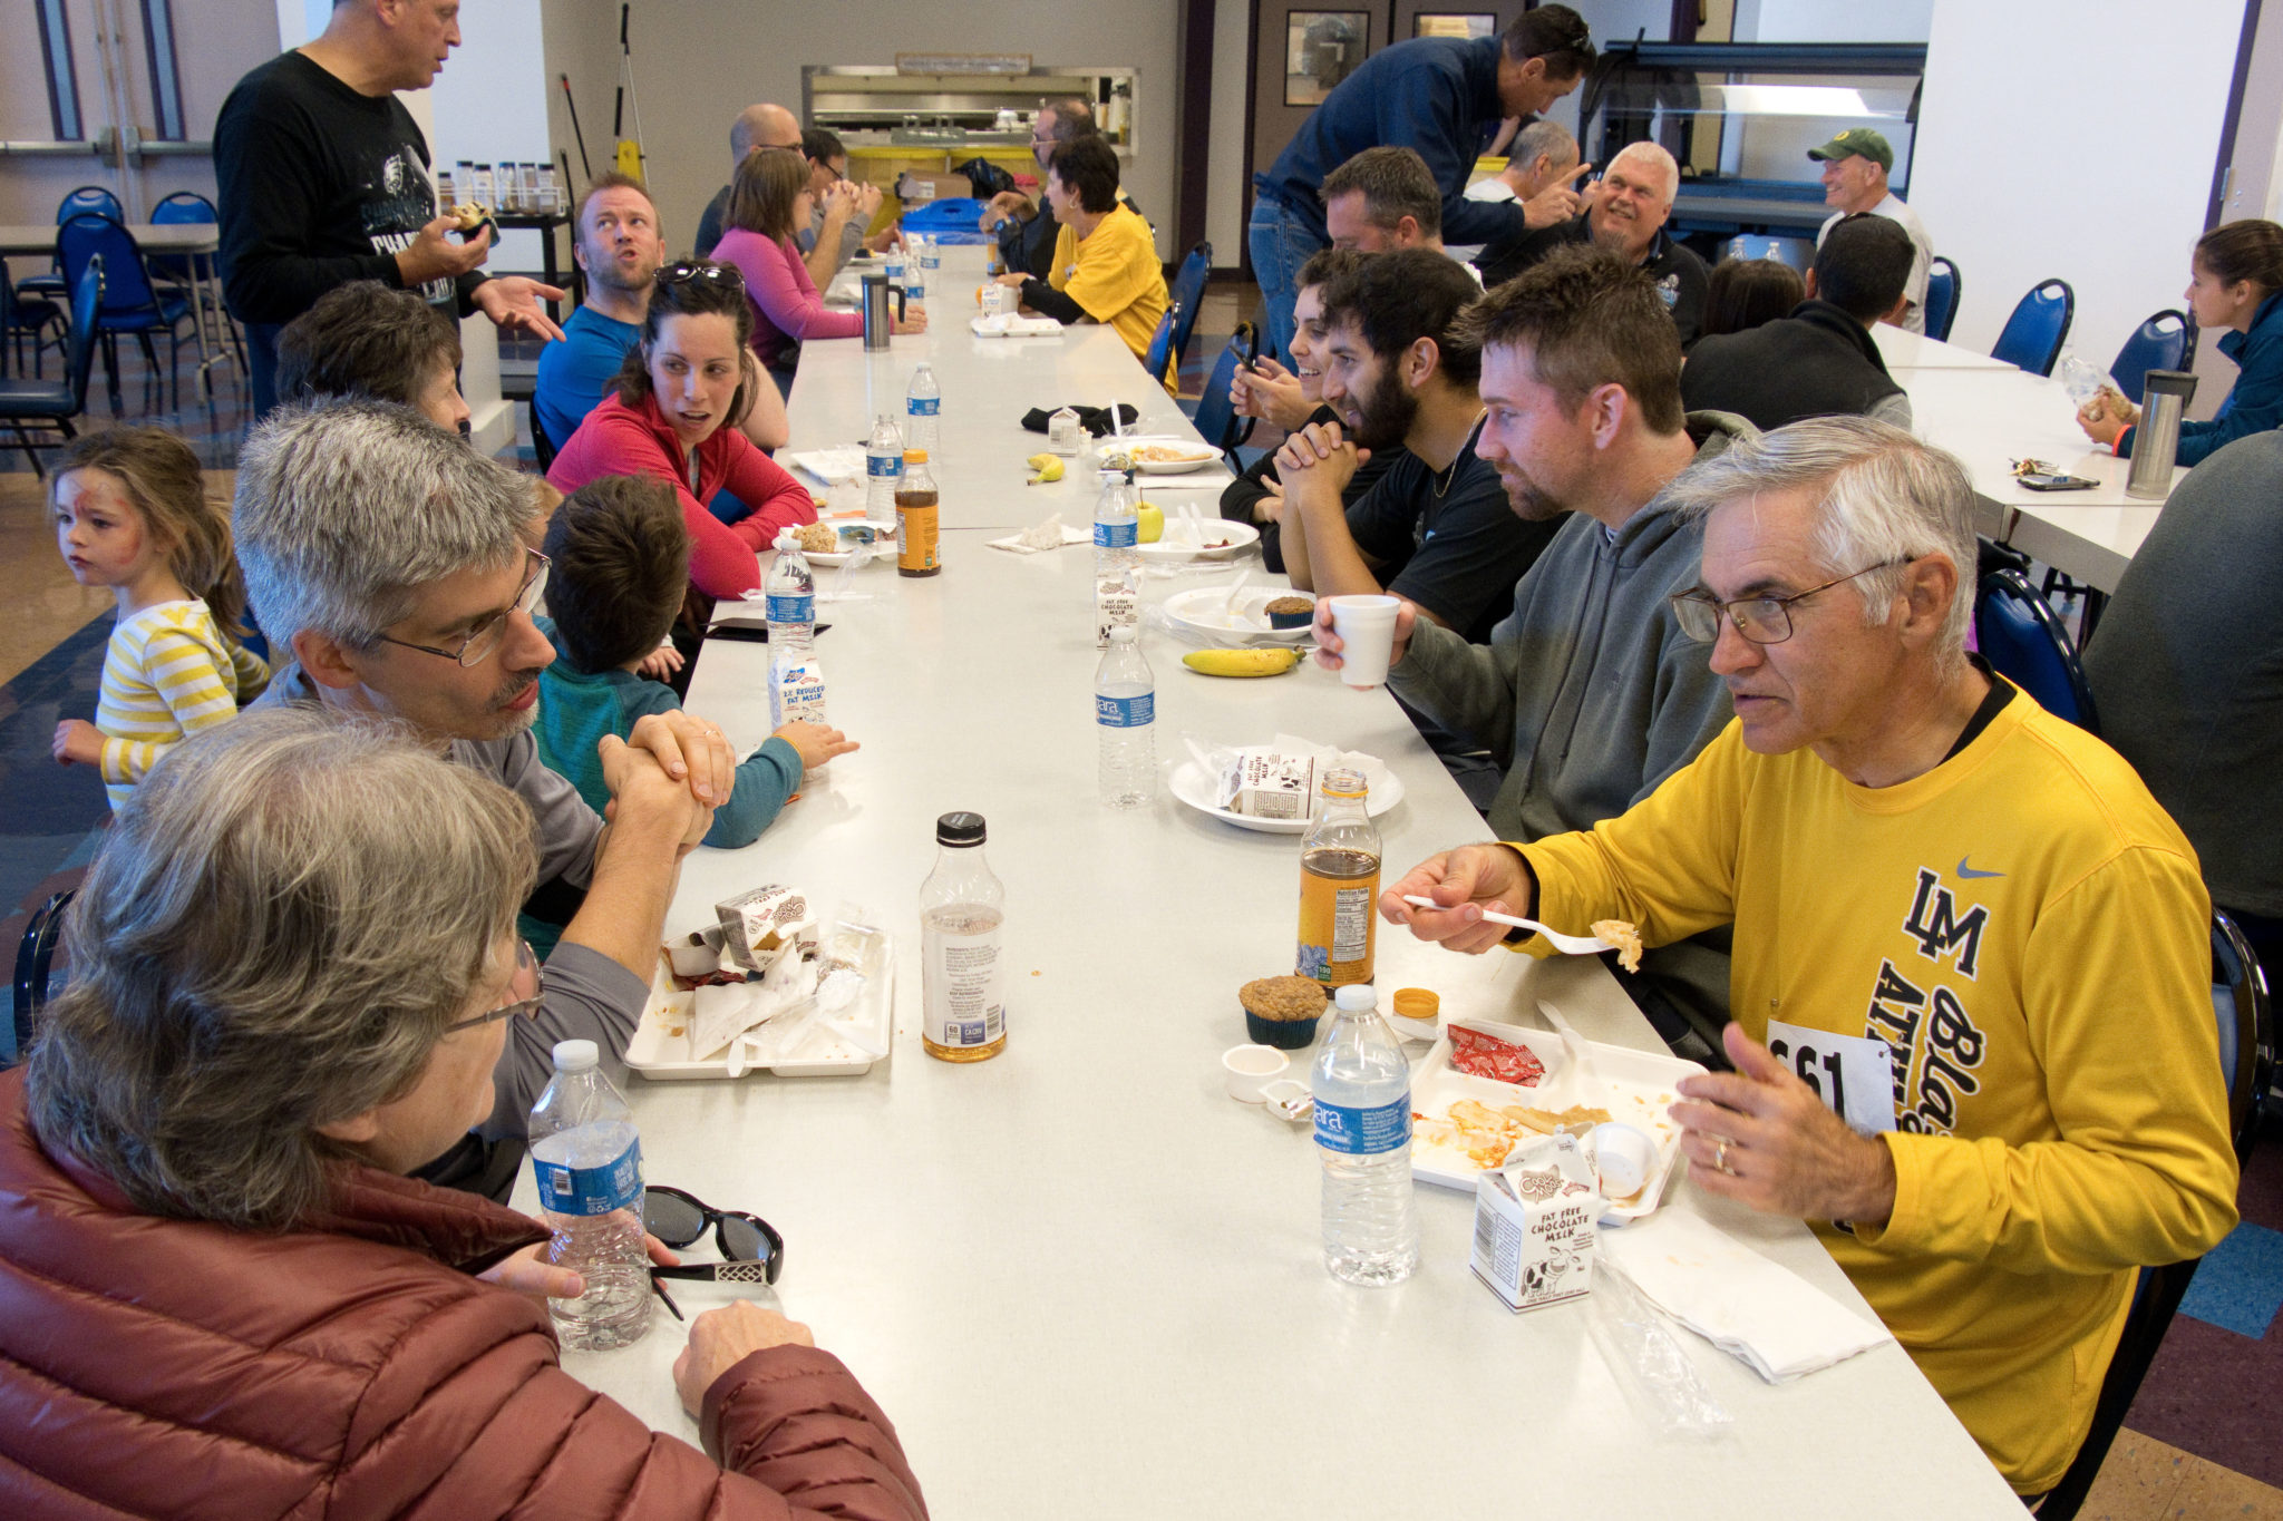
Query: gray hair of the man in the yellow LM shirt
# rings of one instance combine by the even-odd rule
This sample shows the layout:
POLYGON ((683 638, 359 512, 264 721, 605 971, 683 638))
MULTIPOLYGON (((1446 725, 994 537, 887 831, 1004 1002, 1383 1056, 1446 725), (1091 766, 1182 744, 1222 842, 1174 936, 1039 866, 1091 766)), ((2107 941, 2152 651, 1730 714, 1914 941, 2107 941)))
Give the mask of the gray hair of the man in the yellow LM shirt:
POLYGON ((1925 445, 1870 417, 1808 417, 1758 438, 1737 438, 1721 454, 1680 474, 1669 488, 1683 520, 1758 493, 1806 490, 1817 497, 1813 552, 1826 577, 1865 566, 1856 588, 1863 623, 1883 625, 1902 595, 1902 566, 1941 554, 1959 572, 1943 613, 1936 659, 1945 673, 1966 664, 1966 625, 1975 607, 1975 483, 1954 454, 1925 445))

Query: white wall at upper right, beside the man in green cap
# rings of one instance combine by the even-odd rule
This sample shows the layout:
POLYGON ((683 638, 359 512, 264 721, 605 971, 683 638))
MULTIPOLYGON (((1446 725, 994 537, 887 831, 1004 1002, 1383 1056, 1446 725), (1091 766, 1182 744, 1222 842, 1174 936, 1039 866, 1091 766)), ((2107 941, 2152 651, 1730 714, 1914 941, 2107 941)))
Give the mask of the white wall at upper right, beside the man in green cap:
POLYGON ((2048 276, 2075 287, 2068 344, 2098 365, 2178 306, 2242 18, 2242 0, 2173 0, 2160 25, 2141 0, 1936 0, 1911 205, 1966 283, 1952 342, 1988 349, 2048 276))

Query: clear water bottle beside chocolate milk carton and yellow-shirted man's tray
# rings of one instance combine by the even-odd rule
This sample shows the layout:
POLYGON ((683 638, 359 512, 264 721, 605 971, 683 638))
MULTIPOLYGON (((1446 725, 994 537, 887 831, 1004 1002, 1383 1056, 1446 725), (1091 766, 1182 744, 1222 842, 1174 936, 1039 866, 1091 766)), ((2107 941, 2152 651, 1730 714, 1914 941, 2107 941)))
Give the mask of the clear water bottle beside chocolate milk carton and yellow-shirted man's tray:
POLYGON ((1365 983, 1333 999, 1315 1054, 1315 1152, 1324 1158, 1324 1266, 1345 1284, 1399 1284, 1420 1266, 1411 1199, 1411 1063, 1365 983))

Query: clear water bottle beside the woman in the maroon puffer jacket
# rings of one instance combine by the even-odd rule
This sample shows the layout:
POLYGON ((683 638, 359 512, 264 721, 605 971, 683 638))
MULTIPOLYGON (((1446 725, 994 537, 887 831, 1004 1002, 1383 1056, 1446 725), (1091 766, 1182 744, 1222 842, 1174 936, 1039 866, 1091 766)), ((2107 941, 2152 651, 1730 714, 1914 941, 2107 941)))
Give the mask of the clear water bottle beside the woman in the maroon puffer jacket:
POLYGON ((639 1341, 651 1325, 642 1138, 591 1040, 555 1044, 555 1081, 532 1106, 532 1172, 555 1231, 548 1259, 587 1282, 575 1300, 548 1300, 555 1334, 582 1350, 639 1341))

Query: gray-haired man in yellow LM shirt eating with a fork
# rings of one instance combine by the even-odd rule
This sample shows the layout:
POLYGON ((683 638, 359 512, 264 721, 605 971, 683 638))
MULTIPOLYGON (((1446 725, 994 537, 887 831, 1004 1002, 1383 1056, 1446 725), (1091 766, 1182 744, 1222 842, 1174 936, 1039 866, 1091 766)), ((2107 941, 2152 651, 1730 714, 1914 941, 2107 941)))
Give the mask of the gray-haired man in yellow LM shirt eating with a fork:
POLYGON ((2043 1494, 2135 1268, 2235 1225, 2194 851, 2114 750, 1966 654, 1954 458, 1822 417, 1673 490, 1705 522, 1673 609, 1735 723, 1625 814, 1436 855, 1381 912, 1459 951, 1500 942, 1486 908, 1653 946, 1735 924, 1735 1072, 1673 1106, 1692 1186, 1813 1222, 2043 1494))

